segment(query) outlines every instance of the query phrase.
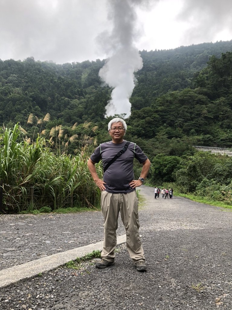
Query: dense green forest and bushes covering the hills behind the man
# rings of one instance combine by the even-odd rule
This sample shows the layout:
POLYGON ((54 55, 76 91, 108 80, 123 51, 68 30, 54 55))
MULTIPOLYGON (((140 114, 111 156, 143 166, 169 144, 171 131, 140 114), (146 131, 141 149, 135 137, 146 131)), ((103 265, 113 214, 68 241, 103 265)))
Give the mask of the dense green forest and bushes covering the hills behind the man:
MULTIPOLYGON (((192 147, 232 147, 232 40, 140 54, 126 139, 150 158, 149 181, 198 194, 204 186, 232 203, 231 159, 192 147)), ((104 115, 112 89, 98 76, 104 64, 0 60, 0 125, 19 123, 28 141, 43 135, 67 155, 87 144, 91 152, 109 140, 104 115)))

